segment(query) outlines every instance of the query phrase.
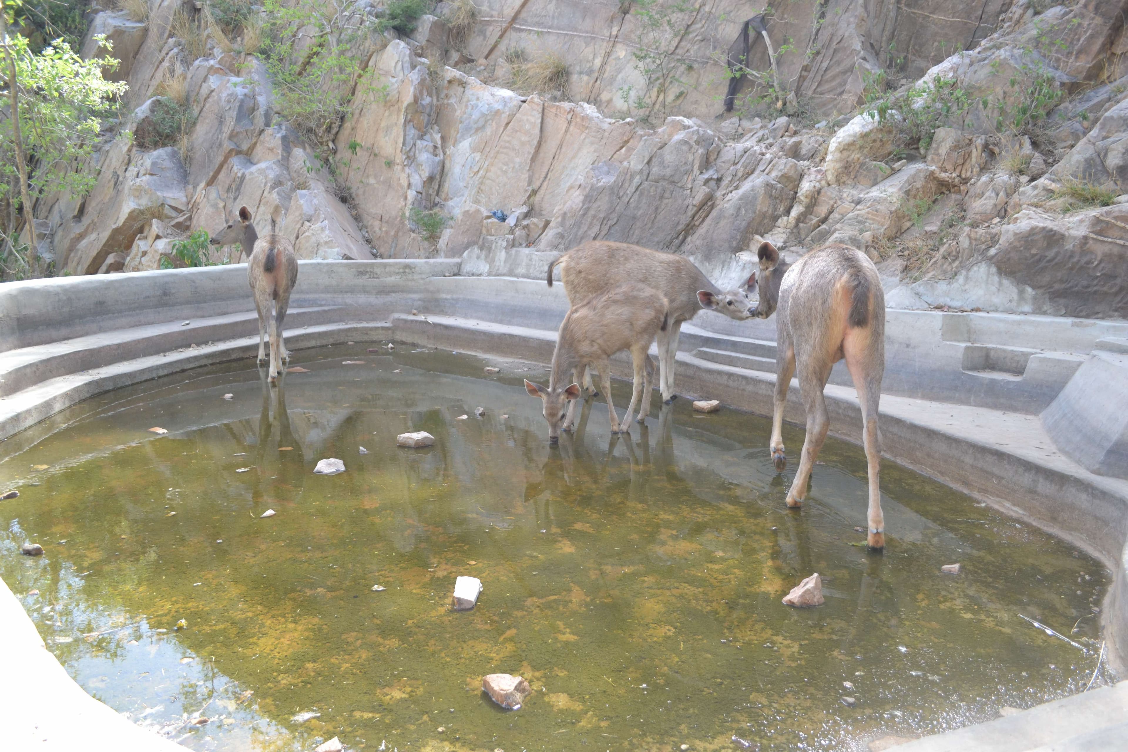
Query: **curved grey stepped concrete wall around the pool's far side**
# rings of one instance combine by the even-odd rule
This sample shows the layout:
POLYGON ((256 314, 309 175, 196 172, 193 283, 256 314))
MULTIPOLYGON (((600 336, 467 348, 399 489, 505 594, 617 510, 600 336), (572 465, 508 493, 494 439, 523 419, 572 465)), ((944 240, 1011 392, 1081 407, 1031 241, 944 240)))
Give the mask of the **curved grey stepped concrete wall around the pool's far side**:
MULTIPOLYGON (((561 285, 457 276, 459 264, 302 262, 287 344, 395 337, 547 362, 567 310, 561 285)), ((0 440, 100 391, 250 356, 257 331, 245 265, 0 285, 0 440)), ((1107 564, 1113 582, 1102 619, 1117 666, 1128 648, 1128 480, 1054 451, 1037 414, 1059 392, 1084 400, 1084 389, 1063 387, 1098 357, 1098 339, 1125 334, 1122 322, 891 310, 881 405, 887 457, 1107 564)), ((679 392, 769 415, 774 335, 770 320, 698 316, 682 328, 679 392)), ((858 442, 846 384, 839 375, 826 391, 831 432, 858 442)), ((804 419, 797 389, 785 416, 804 419)), ((1075 422, 1066 433, 1085 430, 1075 422)))

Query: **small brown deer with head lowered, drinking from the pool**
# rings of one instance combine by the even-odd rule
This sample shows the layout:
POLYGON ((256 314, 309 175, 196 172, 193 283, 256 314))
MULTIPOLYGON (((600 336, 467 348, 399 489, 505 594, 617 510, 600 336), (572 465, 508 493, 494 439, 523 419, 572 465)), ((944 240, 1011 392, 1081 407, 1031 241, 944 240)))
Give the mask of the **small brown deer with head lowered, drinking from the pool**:
POLYGON ((553 370, 548 387, 526 380, 531 397, 544 401, 549 443, 559 442, 559 431, 571 427, 575 400, 580 397, 579 381, 589 366, 594 366, 603 382, 611 433, 626 433, 631 414, 638 404, 637 419, 650 412, 650 344, 668 328, 667 302, 658 292, 637 282, 622 284, 587 302, 573 306, 564 317, 553 353, 553 370), (611 402, 610 357, 623 350, 631 351, 634 361, 634 391, 627 414, 620 423, 611 402), (567 377, 572 377, 572 382, 567 377), (567 386, 565 386, 567 384, 567 386))

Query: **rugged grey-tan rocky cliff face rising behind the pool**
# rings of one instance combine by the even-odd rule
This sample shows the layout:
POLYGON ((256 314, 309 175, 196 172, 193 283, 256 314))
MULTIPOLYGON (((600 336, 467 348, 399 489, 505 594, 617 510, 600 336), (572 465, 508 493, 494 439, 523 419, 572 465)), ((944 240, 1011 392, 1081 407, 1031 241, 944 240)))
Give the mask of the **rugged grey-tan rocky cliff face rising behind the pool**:
MULTIPOLYGON (((879 262, 891 306, 1128 317, 1128 3, 788 3, 769 36, 805 52, 778 55, 796 97, 772 117, 716 117, 742 6, 694 6, 676 51, 686 94, 650 125, 611 116, 645 86, 632 51, 654 41, 628 5, 487 0, 459 50, 433 17, 358 50, 361 83, 318 152, 336 154, 334 175, 280 122, 254 56, 211 41, 188 60, 169 34, 179 0, 148 24, 98 14, 134 132, 178 71, 195 125, 180 148, 107 142, 85 201, 37 206, 45 250, 72 273, 155 268, 174 239, 247 205, 303 258, 461 256, 464 274, 539 277, 603 238, 685 254, 723 284, 747 276, 760 238, 793 256, 846 242, 879 262), (522 45, 566 62, 579 104, 483 82, 522 45), (879 71, 949 99, 891 91, 855 114, 879 71), (1023 120, 1028 100, 1052 112, 1023 120), (878 117, 882 101, 904 113, 878 117)), ((767 70, 763 46, 749 60, 767 70)))

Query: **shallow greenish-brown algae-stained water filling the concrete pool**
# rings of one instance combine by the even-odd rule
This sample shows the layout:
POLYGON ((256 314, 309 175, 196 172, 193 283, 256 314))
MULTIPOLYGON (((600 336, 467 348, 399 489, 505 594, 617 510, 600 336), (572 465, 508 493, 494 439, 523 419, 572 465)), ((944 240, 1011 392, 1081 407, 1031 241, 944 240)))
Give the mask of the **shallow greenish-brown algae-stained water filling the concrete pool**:
POLYGON ((885 462, 869 554, 858 448, 828 440, 790 511, 764 418, 655 396, 616 437, 596 400, 550 448, 543 369, 379 347, 296 353, 277 389, 247 362, 150 381, 0 445, 0 575, 87 691, 195 750, 838 750, 1089 681, 1107 573, 941 484, 885 462), (826 604, 783 605, 812 572, 826 604), (535 695, 499 709, 494 672, 535 695))

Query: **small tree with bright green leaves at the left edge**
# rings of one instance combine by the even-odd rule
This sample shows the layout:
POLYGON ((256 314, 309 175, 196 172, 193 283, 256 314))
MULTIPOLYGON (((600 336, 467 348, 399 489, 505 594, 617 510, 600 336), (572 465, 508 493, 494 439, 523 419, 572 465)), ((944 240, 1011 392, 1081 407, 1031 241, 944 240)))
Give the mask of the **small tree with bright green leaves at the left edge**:
MULTIPOLYGON (((20 0, 0 0, 0 81, 7 89, 7 113, 0 117, 0 216, 3 240, 15 248, 16 211, 28 229, 27 272, 38 273, 35 198, 53 191, 85 195, 97 172, 82 169, 98 140, 100 117, 108 115, 125 92, 125 83, 106 81, 104 69, 117 60, 82 60, 56 39, 38 53, 27 37, 11 32, 20 0)), ((98 43, 106 50, 105 37, 98 43)))

